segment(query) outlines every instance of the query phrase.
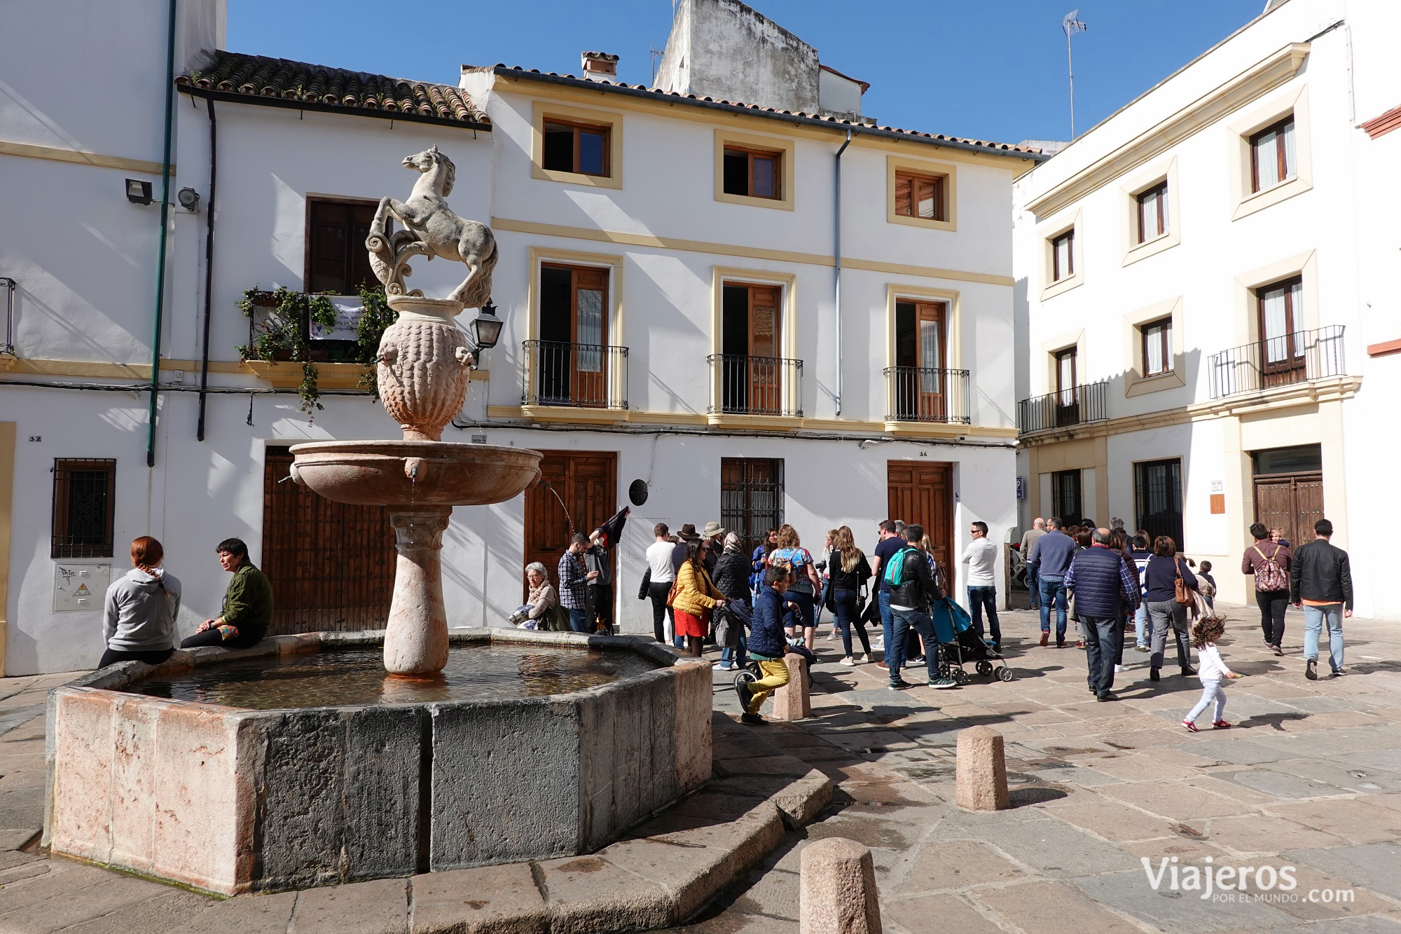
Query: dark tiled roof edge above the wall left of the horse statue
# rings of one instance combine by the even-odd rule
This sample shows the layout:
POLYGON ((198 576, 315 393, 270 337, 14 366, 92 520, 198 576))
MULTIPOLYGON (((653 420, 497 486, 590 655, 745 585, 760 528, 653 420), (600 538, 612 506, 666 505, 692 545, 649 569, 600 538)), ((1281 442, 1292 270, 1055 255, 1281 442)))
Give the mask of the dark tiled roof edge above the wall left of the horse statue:
POLYGON ((216 49, 209 63, 175 79, 177 84, 224 94, 304 101, 322 107, 405 114, 451 123, 489 121, 453 84, 354 72, 310 62, 216 49))

